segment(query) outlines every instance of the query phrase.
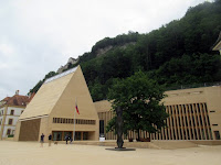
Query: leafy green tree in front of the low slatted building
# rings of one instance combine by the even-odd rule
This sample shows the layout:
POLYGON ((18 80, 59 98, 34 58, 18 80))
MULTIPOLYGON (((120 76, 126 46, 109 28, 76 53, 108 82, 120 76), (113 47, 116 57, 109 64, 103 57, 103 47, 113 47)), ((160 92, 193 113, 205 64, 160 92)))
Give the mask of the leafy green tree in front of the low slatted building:
MULTIPOLYGON (((113 111, 120 107, 123 110, 124 133, 139 130, 155 133, 166 125, 168 114, 161 101, 164 89, 155 80, 138 72, 126 79, 116 79, 108 92, 108 100, 112 101, 113 111)), ((107 131, 116 130, 116 117, 113 118, 107 131)))

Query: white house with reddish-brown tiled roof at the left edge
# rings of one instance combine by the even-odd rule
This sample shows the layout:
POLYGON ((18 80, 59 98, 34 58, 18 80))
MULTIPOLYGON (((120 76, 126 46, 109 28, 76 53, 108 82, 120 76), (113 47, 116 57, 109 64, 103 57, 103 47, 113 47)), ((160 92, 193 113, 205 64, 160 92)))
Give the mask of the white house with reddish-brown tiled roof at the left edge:
POLYGON ((17 121, 29 102, 30 98, 19 95, 19 90, 0 101, 0 140, 13 136, 17 121))

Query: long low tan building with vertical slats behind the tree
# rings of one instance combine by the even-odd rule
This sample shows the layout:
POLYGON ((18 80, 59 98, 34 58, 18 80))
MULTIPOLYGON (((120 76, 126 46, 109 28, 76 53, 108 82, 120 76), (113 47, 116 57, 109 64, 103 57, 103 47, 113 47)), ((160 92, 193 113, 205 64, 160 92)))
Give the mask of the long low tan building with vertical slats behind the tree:
MULTIPOLYGON (((169 118, 167 127, 160 133, 140 130, 141 138, 151 140, 220 140, 221 132, 221 86, 180 89, 166 91, 168 96, 162 101, 169 118)), ((95 102, 99 118, 99 132, 107 140, 116 140, 113 132, 105 132, 105 127, 113 118, 110 103, 106 100, 95 102)), ((135 132, 128 136, 136 139, 135 132)), ((124 139, 128 139, 124 136, 124 139)))

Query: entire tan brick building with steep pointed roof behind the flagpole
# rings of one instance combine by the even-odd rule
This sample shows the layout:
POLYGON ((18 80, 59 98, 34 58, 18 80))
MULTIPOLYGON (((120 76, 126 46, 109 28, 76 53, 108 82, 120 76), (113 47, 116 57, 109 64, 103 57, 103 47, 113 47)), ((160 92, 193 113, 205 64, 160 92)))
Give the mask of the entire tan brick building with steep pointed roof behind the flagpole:
POLYGON ((98 140, 98 116, 80 66, 49 78, 19 118, 15 141, 98 140), (76 113, 77 105, 80 114, 76 113), (75 132, 75 133, 74 133, 75 132))

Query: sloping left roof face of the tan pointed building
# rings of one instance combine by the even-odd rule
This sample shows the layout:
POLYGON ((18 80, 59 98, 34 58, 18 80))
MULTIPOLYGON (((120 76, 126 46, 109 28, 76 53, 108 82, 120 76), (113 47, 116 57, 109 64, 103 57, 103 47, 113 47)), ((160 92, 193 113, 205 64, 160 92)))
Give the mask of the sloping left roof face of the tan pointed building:
POLYGON ((77 67, 53 76, 44 81, 20 119, 49 116, 62 96, 77 67))

